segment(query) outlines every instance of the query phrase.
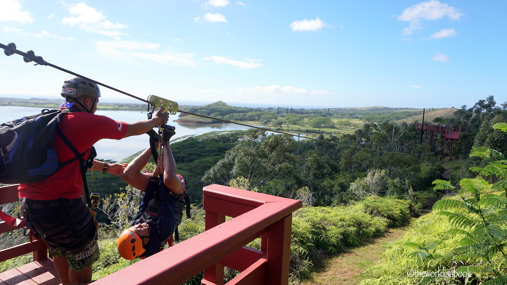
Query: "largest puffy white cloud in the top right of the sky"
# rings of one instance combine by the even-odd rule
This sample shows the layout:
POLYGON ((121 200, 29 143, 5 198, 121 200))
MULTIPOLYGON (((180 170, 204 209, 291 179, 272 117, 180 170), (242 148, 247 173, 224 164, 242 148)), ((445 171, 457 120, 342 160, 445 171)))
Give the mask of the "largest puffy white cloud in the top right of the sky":
POLYGON ((403 34, 408 35, 412 34, 414 30, 421 29, 421 20, 433 21, 446 16, 451 20, 459 20, 463 13, 452 6, 440 3, 440 1, 430 0, 403 10, 397 19, 410 23, 409 27, 402 30, 403 34))

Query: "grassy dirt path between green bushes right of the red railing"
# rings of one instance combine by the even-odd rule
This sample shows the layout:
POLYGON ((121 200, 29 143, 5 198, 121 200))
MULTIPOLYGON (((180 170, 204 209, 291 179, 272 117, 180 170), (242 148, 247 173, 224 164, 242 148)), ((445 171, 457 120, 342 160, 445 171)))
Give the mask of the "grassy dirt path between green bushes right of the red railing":
POLYGON ((375 264, 389 243, 403 236, 410 226, 389 229, 383 237, 372 239, 365 246, 351 248, 336 258, 315 264, 316 272, 301 285, 355 285, 360 279, 354 276, 375 264))

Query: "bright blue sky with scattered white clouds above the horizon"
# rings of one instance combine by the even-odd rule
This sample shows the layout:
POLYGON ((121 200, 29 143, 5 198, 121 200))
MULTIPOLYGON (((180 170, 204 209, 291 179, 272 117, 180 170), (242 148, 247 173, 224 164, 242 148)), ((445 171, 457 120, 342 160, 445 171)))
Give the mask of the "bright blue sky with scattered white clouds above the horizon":
MULTIPOLYGON (((0 0, 0 43, 180 104, 460 108, 507 100, 505 11, 504 0, 0 0)), ((67 77, 19 55, 0 54, 0 67, 0 96, 57 98, 67 77)))

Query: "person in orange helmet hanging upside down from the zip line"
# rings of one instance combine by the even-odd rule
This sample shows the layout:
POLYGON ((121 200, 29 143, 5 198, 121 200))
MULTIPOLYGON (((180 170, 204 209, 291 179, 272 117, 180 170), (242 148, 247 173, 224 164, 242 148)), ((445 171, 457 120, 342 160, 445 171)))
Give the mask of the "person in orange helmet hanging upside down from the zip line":
MULTIPOLYGON (((151 136, 156 135, 155 131, 151 132, 151 136)), ((132 226, 118 238, 118 253, 127 260, 160 252, 182 221, 187 184, 184 177, 176 173, 176 162, 169 146, 173 134, 174 127, 163 126, 164 152, 158 157, 153 173, 140 172, 150 161, 151 148, 144 150, 123 171, 123 180, 144 192, 132 226)))

